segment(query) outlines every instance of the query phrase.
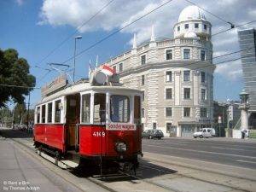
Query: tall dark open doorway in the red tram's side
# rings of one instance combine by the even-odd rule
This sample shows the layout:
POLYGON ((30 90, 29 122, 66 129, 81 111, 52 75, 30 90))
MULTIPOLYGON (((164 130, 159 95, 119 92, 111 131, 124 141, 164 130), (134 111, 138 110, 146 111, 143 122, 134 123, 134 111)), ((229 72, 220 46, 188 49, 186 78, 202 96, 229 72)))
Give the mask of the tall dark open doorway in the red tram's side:
POLYGON ((75 129, 76 129, 76 125, 79 124, 79 113, 80 113, 80 95, 75 94, 75 95, 67 96, 67 114, 66 114, 67 150, 73 150, 75 147, 75 129))

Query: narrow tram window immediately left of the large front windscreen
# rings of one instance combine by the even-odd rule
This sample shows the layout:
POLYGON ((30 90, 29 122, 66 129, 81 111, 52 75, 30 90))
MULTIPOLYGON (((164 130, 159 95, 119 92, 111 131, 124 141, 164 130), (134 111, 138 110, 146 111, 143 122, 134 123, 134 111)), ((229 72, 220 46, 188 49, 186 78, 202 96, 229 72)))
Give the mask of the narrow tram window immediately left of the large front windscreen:
POLYGON ((106 94, 96 93, 94 95, 94 123, 106 122, 106 94))

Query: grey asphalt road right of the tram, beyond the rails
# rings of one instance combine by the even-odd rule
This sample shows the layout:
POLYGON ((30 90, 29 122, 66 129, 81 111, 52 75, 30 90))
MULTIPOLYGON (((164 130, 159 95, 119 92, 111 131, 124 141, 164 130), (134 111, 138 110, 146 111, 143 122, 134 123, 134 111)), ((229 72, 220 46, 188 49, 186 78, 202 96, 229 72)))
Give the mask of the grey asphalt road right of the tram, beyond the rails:
POLYGON ((143 152, 256 169, 256 142, 224 139, 143 139, 143 152))

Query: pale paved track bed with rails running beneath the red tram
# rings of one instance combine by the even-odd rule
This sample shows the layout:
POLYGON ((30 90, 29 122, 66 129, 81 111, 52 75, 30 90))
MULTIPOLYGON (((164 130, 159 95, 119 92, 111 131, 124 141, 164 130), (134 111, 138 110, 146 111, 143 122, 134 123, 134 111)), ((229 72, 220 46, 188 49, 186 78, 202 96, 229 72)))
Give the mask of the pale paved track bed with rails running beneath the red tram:
MULTIPOLYGON (((14 138, 12 140, 17 148, 22 149, 24 153, 29 154, 32 158, 40 160, 45 163, 37 154, 34 153, 32 148, 32 140, 30 138, 14 138)), ((47 163, 46 163, 47 164, 47 163)), ((47 164, 48 165, 48 164, 47 164)), ((49 165, 48 165, 49 166, 49 165)), ((226 177, 224 175, 215 175, 208 178, 195 177, 193 174, 207 174, 206 172, 184 169, 168 165, 168 163, 155 163, 153 161, 141 160, 141 166, 138 170, 137 176, 125 173, 125 177, 119 178, 100 178, 88 177, 83 170, 81 172, 63 172, 58 167, 52 168, 52 172, 57 172, 60 177, 64 177, 74 186, 79 186, 81 183, 93 182, 107 191, 253 191, 251 190, 254 185, 247 183, 246 186, 240 186, 236 183, 225 183, 224 180, 231 179, 236 181, 236 177, 226 177), (60 173, 61 172, 61 173, 60 173), (128 174, 128 175, 127 175, 128 174), (212 177, 224 177, 222 182, 212 177), (79 182, 78 182, 79 180, 79 182)), ((241 178, 239 178, 241 182, 241 178)), ((88 190, 88 189, 87 189, 88 190)))

